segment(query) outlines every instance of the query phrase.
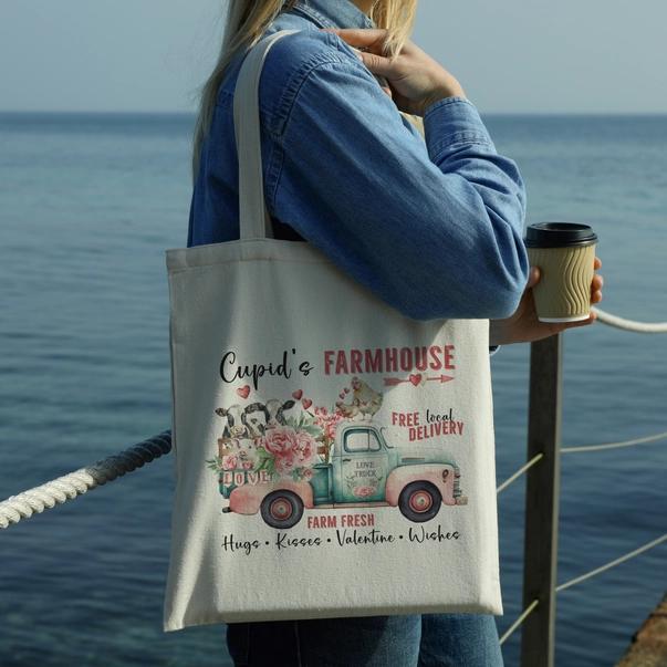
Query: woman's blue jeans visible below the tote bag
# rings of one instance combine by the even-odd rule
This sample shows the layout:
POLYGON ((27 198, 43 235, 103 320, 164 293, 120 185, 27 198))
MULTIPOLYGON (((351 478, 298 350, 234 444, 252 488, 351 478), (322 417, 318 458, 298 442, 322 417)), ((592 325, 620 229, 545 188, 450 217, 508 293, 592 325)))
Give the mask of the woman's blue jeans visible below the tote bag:
POLYGON ((235 667, 502 667, 496 619, 424 614, 232 623, 235 667))

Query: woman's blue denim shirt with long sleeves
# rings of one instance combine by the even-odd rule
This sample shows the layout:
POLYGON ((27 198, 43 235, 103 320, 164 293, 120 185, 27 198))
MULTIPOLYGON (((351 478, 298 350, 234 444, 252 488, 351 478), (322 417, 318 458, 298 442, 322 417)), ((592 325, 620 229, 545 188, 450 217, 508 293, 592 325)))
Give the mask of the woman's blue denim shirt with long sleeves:
MULTIPOLYGON (((323 27, 374 22, 351 0, 298 0, 264 33, 301 30, 272 46, 259 86, 275 238, 309 241, 408 317, 510 316, 529 272, 515 163, 498 154, 462 97, 427 107, 425 143, 354 51, 323 27)), ((188 247, 239 238, 233 91, 243 55, 219 87, 188 247)))

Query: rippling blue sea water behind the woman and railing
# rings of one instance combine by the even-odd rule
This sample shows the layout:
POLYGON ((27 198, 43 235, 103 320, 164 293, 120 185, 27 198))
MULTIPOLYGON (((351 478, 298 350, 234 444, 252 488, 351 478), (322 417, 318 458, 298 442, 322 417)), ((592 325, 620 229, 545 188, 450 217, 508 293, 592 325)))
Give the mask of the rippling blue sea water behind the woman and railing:
MULTIPOLYGON (((598 235, 604 300, 667 320, 667 116, 482 114, 528 221, 598 235)), ((0 498, 170 426, 165 249, 185 247, 190 115, 0 115, 0 498)), ((563 446, 667 430, 667 335, 563 334, 563 446)), ((524 460, 529 353, 491 359, 498 481, 524 460)), ((559 581, 667 531, 667 440, 564 455, 559 581)), ((524 480, 499 500, 504 632, 521 613, 524 480)), ((225 627, 163 633, 163 457, 0 535, 3 667, 231 665, 225 627)), ((417 574, 418 575, 418 574, 417 574)), ((557 597, 556 665, 614 665, 667 584, 667 544, 557 597)), ((520 632, 503 646, 519 665, 520 632)))

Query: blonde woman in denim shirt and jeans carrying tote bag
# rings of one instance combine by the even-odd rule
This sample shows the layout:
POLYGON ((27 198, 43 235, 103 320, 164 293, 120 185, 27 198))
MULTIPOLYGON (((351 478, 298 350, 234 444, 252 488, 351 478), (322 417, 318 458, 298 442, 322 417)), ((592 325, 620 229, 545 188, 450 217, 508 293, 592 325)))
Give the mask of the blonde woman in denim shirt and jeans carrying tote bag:
MULTIPOLYGON (((201 96, 188 247, 239 238, 239 67, 259 39, 296 29, 259 85, 274 237, 309 241, 406 316, 490 319, 493 348, 590 324, 536 320, 521 175, 460 83, 408 40, 415 11, 416 0, 230 0, 201 96)), ((601 288, 595 275, 593 303, 601 288)), ((227 640, 238 666, 502 665, 489 615, 238 623, 227 640)))

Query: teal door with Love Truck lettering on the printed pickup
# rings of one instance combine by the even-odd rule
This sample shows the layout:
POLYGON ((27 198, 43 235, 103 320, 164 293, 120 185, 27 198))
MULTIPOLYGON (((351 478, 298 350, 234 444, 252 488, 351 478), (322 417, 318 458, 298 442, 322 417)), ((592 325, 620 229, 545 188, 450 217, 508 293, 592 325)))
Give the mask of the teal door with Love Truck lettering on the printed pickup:
POLYGON ((388 455, 369 428, 348 428, 343 435, 337 502, 384 500, 388 455))

